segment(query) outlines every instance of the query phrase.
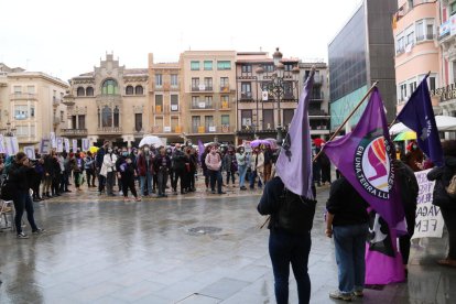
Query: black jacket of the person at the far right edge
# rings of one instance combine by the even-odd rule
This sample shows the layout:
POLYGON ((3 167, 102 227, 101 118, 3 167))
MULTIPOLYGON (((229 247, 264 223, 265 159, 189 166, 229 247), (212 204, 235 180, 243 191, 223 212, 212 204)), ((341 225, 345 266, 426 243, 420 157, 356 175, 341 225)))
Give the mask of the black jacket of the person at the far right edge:
POLYGON ((435 181, 433 202, 435 206, 442 208, 456 208, 456 202, 446 193, 445 187, 456 173, 456 158, 445 156, 444 166, 434 167, 427 173, 427 180, 435 181))

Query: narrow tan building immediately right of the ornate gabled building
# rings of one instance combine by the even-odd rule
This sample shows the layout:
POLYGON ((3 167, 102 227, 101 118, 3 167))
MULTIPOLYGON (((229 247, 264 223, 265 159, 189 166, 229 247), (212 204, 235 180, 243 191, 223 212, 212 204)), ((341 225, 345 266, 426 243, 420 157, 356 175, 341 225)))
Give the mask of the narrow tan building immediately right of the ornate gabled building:
MULTIPOLYGON (((167 142, 182 142, 184 118, 181 83, 182 74, 178 63, 154 63, 149 54, 149 105, 151 128, 146 131, 166 138, 167 142)), ((148 109, 149 110, 149 109, 148 109)), ((137 132, 138 135, 144 133, 137 132)))

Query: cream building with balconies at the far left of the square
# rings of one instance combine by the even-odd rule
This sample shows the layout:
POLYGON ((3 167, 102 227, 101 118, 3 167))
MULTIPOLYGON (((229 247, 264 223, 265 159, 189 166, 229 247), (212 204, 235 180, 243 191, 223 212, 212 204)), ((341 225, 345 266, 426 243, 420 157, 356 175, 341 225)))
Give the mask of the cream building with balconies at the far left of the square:
POLYGON ((66 126, 62 102, 68 85, 41 72, 10 68, 0 63, 0 130, 14 134, 19 144, 33 145, 42 138, 57 135, 66 126))

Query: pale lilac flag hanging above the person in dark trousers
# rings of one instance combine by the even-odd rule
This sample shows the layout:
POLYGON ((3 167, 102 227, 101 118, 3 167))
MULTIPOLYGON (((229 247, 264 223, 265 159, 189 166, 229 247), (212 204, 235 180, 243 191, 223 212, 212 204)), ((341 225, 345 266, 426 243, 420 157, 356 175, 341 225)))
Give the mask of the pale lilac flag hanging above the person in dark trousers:
POLYGON ((308 102, 314 85, 312 70, 300 97, 289 133, 275 163, 276 175, 291 192, 314 199, 312 193, 312 150, 308 126, 308 102))

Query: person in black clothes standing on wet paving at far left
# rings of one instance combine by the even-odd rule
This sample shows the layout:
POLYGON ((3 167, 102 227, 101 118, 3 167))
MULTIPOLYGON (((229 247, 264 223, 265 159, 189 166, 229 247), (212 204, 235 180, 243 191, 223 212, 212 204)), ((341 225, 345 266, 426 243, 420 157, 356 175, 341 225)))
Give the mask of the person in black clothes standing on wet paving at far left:
POLYGON ((34 175, 34 169, 29 161, 25 153, 19 152, 15 154, 14 161, 9 169, 9 186, 12 189, 12 197, 14 204, 14 225, 19 239, 28 239, 29 236, 22 231, 22 216, 26 211, 26 218, 33 234, 44 232, 44 229, 39 228, 33 216, 33 203, 30 196, 30 188, 34 175))

